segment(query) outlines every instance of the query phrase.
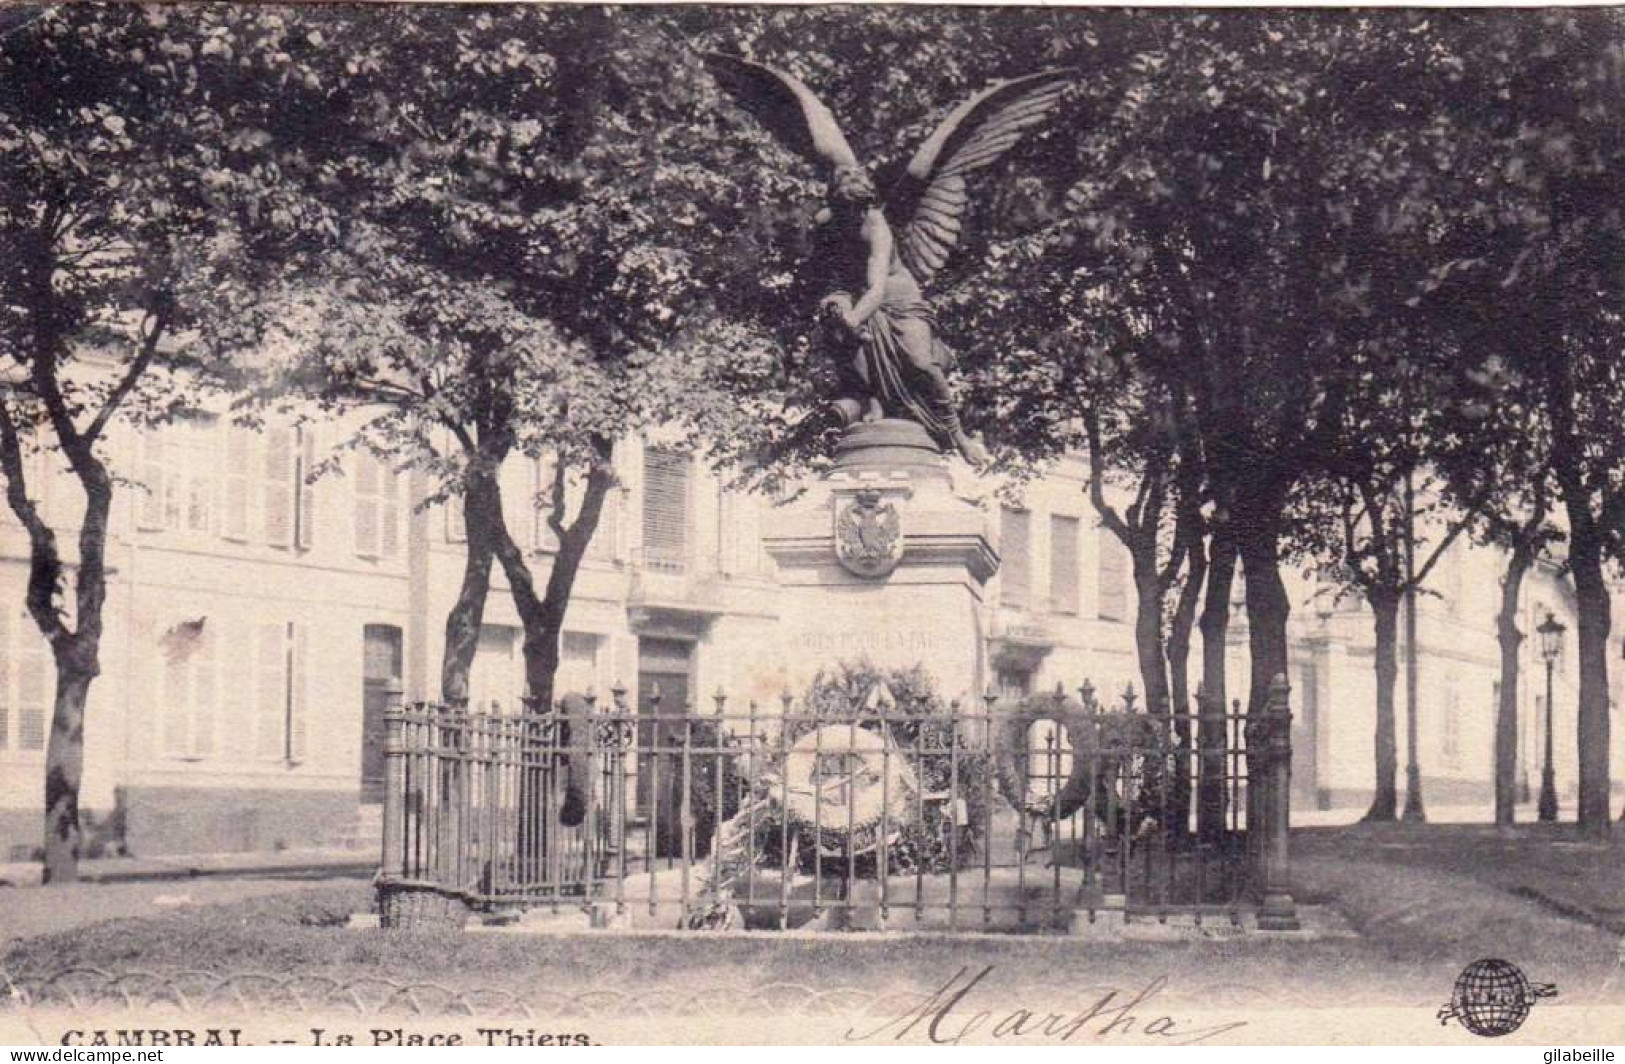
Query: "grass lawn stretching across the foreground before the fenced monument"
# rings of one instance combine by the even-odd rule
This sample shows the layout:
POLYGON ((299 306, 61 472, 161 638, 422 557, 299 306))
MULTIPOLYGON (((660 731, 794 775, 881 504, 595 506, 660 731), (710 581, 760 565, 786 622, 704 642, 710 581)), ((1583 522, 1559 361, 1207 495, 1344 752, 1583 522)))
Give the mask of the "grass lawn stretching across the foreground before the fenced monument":
POLYGON ((1159 1001, 1259 1007, 1443 1002, 1466 963, 1505 957, 1531 978, 1558 983, 1565 1001, 1625 1001, 1620 934, 1607 923, 1620 913, 1625 882, 1618 843, 1588 846, 1531 828, 1505 837, 1476 827, 1315 830, 1300 835, 1294 869, 1300 902, 1336 910, 1358 937, 757 932, 712 936, 696 949, 700 934, 385 934, 343 928, 370 908, 369 887, 351 882, 23 939, 0 968, 13 976, 73 965, 301 971, 546 996, 629 984, 652 994, 769 983, 930 991, 962 967, 994 965, 1012 997, 1022 988, 1133 991, 1167 976, 1159 1001))

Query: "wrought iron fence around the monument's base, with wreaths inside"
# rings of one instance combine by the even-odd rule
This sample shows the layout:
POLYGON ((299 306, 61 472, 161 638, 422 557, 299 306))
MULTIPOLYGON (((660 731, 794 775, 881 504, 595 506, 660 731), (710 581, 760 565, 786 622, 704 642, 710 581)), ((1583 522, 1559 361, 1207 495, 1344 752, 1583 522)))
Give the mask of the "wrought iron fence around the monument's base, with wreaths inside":
MULTIPOLYGON (((1285 682, 1253 716, 566 700, 387 713, 385 898, 652 928, 1289 928, 1285 682)), ((401 911, 401 910, 393 910, 401 911)))

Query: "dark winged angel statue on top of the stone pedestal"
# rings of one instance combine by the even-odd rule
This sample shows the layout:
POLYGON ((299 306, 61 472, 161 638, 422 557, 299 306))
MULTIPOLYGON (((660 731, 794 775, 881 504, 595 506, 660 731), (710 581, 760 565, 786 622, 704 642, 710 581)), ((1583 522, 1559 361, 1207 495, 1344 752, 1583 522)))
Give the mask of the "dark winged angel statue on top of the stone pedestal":
POLYGON ((947 370, 952 351, 936 335, 923 288, 947 262, 970 201, 965 179, 996 162, 1043 122, 1074 76, 1046 70, 998 81, 956 107, 920 145, 884 200, 835 117, 795 76, 731 55, 707 55, 717 81, 786 148, 832 169, 829 210, 819 211, 829 294, 819 310, 855 344, 842 361, 835 408, 845 424, 905 417, 972 465, 986 452, 959 422, 947 370), (889 218, 907 219, 894 232, 889 218))

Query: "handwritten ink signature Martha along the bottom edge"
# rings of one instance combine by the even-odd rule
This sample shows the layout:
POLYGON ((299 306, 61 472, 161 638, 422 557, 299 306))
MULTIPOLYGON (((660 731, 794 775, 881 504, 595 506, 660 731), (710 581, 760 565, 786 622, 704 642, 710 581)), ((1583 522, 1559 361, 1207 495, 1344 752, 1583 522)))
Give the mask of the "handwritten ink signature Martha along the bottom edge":
MULTIPOLYGON (((1165 1012, 1152 1012, 1147 1009, 1147 1004, 1167 988, 1168 981, 1164 976, 1157 976, 1133 996, 1108 989, 1092 1002, 1071 1012, 1051 1012, 1022 1006, 1001 1010, 978 1009, 972 1002, 972 994, 993 975, 993 970, 994 965, 986 965, 972 975, 970 968, 960 968, 930 997, 910 1007, 902 1015, 884 1020, 868 1030, 850 1028, 847 1041, 876 1041, 886 1038, 902 1041, 912 1032, 921 1028, 920 1035, 942 1046, 959 1045, 970 1040, 972 1035, 996 1041, 1017 1038, 1029 1041, 1138 1038, 1141 1041, 1190 1046, 1217 1038, 1238 1027, 1246 1027, 1245 1020, 1193 1027, 1165 1012)), ((915 1036, 918 1038, 920 1035, 915 1036)))

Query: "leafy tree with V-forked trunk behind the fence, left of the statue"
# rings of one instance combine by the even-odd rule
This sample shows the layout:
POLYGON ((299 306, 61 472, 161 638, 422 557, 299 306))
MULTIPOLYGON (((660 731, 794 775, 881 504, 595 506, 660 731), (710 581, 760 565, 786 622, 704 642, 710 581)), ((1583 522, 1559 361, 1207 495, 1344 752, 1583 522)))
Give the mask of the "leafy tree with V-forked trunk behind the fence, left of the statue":
POLYGON ((242 292, 255 322, 292 338, 266 383, 367 409, 359 445, 462 500, 442 697, 466 697, 496 565, 525 630, 528 697, 551 707, 618 448, 655 427, 730 435, 772 395, 765 348, 712 314, 743 253, 751 190, 713 158, 736 145, 696 123, 715 101, 670 15, 289 18, 333 42, 302 60, 330 120, 268 135, 294 141, 306 195, 340 221, 309 234, 318 250, 273 297, 242 292), (528 500, 551 534, 543 578, 504 505, 509 460, 548 469, 528 500))

